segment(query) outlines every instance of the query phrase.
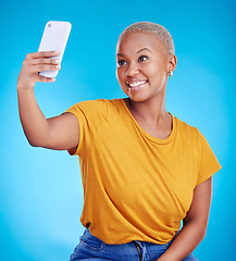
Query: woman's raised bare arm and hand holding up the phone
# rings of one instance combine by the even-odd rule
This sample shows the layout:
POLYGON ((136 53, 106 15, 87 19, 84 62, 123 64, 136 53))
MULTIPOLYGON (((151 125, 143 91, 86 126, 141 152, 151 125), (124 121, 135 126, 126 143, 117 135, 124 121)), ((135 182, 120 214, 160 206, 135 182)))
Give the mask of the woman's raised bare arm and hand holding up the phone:
POLYGON ((60 70, 60 61, 49 59, 55 55, 57 52, 35 52, 26 55, 17 82, 18 112, 26 138, 32 146, 66 150, 78 145, 77 119, 71 113, 46 119, 34 94, 36 82, 54 82, 54 78, 40 76, 38 72, 60 70))

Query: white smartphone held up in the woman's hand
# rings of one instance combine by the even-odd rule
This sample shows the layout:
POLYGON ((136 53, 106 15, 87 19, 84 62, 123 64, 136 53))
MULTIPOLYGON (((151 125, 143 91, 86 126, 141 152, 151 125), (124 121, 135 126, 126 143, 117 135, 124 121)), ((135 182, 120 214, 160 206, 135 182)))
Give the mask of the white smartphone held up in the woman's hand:
MULTIPOLYGON (((38 51, 59 51, 59 55, 52 59, 59 59, 61 63, 71 28, 70 22, 49 21, 46 24, 38 51)), ((58 71, 45 71, 40 72, 39 75, 54 78, 58 71)))

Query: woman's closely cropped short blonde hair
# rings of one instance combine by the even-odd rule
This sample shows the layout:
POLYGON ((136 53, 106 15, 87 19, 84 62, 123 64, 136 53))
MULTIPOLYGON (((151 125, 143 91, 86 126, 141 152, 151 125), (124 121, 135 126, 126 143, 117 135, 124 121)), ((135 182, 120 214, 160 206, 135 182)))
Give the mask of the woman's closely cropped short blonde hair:
POLYGON ((171 34, 162 26, 151 22, 137 22, 129 25, 121 34, 119 41, 129 32, 145 32, 154 34, 165 46, 169 55, 175 54, 174 41, 171 34))

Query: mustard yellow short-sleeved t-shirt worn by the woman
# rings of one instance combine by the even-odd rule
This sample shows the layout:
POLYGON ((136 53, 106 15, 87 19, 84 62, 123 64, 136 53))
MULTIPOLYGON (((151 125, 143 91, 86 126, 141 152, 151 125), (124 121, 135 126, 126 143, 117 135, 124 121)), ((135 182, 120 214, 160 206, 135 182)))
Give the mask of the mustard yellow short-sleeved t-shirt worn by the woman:
POLYGON ((173 117, 158 139, 123 99, 79 102, 66 112, 79 124, 84 187, 80 222, 107 244, 166 244, 186 216, 195 187, 221 169, 200 132, 173 117))

